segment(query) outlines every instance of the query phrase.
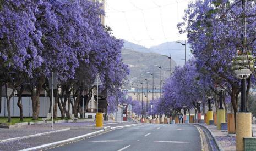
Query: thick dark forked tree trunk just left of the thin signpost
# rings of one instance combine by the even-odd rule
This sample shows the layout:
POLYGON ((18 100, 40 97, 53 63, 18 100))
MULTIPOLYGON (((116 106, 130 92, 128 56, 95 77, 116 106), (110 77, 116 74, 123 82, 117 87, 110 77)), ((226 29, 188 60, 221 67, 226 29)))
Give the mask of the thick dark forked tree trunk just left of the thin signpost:
POLYGON ((33 108, 33 120, 37 120, 39 116, 39 109, 40 109, 39 96, 44 83, 45 83, 45 77, 40 76, 37 79, 36 90, 34 91, 34 88, 30 88, 32 108, 33 108))

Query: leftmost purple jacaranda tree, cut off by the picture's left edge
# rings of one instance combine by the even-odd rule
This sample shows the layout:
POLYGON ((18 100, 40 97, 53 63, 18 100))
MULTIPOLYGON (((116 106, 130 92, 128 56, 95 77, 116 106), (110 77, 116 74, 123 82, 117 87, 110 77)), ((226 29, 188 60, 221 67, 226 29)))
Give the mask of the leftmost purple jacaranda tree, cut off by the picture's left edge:
MULTIPOLYGON (((35 27, 35 11, 37 11, 35 1, 0 2, 0 86, 2 88, 4 82, 9 122, 11 121, 10 98, 25 79, 33 78, 32 71, 42 63, 38 53, 38 49, 43 48, 42 33, 35 27), (12 88, 10 95, 7 94, 8 87, 12 88)), ((23 120, 22 106, 19 107, 20 119, 23 120)))

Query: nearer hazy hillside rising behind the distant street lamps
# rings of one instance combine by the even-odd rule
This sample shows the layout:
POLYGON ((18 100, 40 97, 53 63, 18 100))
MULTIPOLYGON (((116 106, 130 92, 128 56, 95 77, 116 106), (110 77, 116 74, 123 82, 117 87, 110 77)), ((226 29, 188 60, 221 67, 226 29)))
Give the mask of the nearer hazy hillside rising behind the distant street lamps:
MULTIPOLYGON (((144 53, 129 49, 122 49, 123 62, 129 66, 130 75, 129 86, 131 84, 138 84, 139 80, 143 81, 146 86, 145 79, 148 79, 148 88, 152 89, 152 76, 147 73, 154 73, 154 87, 160 88, 160 69, 154 65, 161 66, 162 68, 162 79, 170 76, 170 59, 167 56, 156 54, 156 53, 144 53), (145 78, 145 79, 142 79, 145 78)), ((176 62, 172 60, 172 70, 175 68, 176 62)), ((145 88, 145 87, 144 87, 145 88)))

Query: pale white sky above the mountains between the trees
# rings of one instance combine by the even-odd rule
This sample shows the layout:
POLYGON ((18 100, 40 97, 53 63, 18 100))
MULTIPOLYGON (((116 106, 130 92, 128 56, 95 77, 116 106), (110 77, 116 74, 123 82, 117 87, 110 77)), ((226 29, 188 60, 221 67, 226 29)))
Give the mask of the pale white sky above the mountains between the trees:
POLYGON ((178 22, 191 0, 106 0, 106 25, 114 36, 151 47, 186 40, 178 22))

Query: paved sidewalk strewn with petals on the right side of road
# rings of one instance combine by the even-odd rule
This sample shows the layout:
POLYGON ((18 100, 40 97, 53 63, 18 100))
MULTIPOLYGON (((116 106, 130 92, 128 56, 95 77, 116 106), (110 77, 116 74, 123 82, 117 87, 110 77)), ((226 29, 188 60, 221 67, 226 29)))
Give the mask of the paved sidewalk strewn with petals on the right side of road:
MULTIPOLYGON (((236 150, 236 134, 217 130, 215 125, 200 124, 213 134, 216 143, 224 150, 236 150)), ((256 124, 252 125, 253 135, 256 136, 256 124)))

